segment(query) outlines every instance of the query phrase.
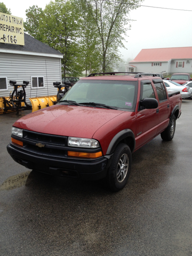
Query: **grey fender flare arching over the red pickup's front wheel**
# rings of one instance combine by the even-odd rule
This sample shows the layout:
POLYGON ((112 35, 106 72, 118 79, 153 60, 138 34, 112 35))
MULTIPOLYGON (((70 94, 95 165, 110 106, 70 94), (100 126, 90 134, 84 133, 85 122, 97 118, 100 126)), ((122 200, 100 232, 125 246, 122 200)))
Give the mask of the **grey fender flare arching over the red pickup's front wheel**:
POLYGON ((109 143, 109 147, 107 149, 107 155, 113 154, 115 148, 117 147, 117 145, 123 142, 125 143, 127 146, 129 146, 131 152, 134 151, 135 148, 135 138, 134 138, 134 133, 130 130, 130 129, 125 129, 122 130, 121 132, 118 132, 114 138, 111 140, 111 142, 109 143))

